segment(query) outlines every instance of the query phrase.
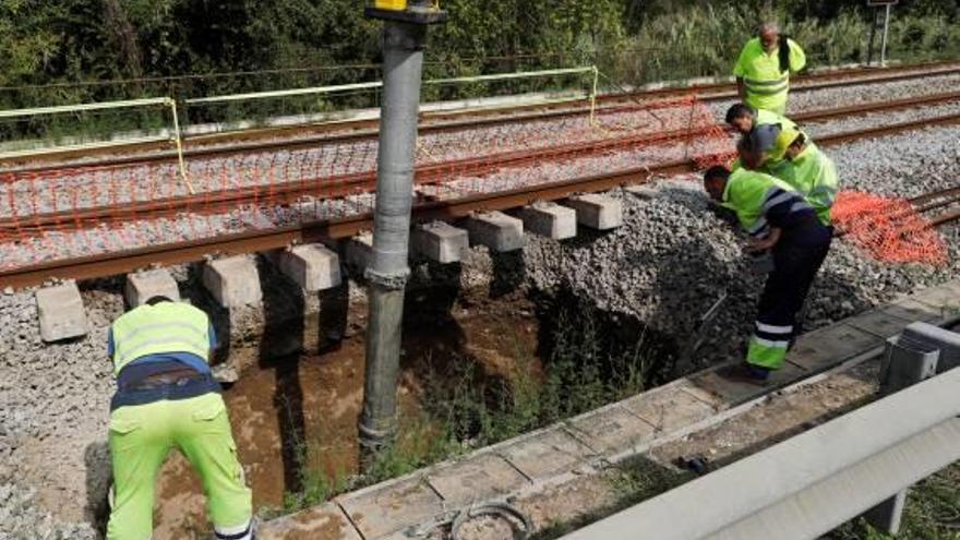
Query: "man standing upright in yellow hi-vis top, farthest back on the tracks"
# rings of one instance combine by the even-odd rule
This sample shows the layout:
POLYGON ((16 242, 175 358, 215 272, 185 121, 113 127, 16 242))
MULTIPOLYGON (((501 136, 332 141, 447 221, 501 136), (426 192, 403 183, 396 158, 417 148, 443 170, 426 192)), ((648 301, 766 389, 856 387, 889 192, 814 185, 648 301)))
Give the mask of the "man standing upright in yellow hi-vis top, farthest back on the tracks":
POLYGON ((806 65, 806 55, 796 41, 780 35, 776 24, 765 24, 759 35, 743 47, 733 75, 740 100, 755 109, 787 113, 790 73, 806 65))

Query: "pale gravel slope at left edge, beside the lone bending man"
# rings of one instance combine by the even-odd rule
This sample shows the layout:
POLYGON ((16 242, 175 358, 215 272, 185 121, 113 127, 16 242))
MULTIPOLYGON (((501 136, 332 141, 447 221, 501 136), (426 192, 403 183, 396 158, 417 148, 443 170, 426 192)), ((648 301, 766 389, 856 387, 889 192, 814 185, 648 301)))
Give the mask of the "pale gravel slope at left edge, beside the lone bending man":
POLYGON ((46 511, 35 509, 36 503, 56 509, 62 523, 83 523, 106 500, 113 384, 106 339, 109 322, 122 313, 122 300, 116 287, 92 287, 83 292, 92 332, 58 345, 40 341, 32 292, 0 296, 0 484, 13 493, 10 506, 4 503, 11 517, 0 519, 13 529, 0 525, 0 532, 28 530, 33 521, 43 526, 49 519, 46 511), (36 490, 35 496, 27 496, 27 488, 36 490))

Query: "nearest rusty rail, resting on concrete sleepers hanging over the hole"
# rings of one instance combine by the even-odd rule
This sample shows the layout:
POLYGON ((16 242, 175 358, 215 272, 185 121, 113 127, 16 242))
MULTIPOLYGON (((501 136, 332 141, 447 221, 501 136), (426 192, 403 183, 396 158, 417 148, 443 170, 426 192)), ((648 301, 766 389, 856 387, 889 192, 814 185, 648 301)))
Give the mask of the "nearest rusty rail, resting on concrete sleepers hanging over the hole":
MULTIPOLYGON (((833 113, 836 111, 824 111, 833 113)), ((929 125, 960 124, 960 115, 888 124, 866 130, 818 137, 821 146, 902 133, 929 125)), ((531 204, 536 201, 555 201, 573 193, 602 192, 620 185, 643 183, 655 176, 693 172, 698 166, 694 159, 682 159, 651 167, 633 168, 614 173, 577 178, 557 182, 538 183, 519 189, 478 193, 452 201, 425 201, 413 207, 413 220, 456 220, 481 211, 503 211, 531 204)), ((363 180, 372 181, 371 179, 363 180)), ((372 188, 369 184, 368 188, 372 188)), ((960 188, 931 193, 912 201, 920 211, 932 211, 960 203, 960 188)), ((166 204, 166 203, 165 203, 166 204)), ((113 214, 118 212, 112 209, 113 214)), ((934 217, 934 226, 960 219, 960 209, 934 217)), ((203 260, 209 254, 238 254, 283 249, 298 243, 332 241, 352 237, 373 225, 373 215, 359 213, 328 220, 303 223, 296 226, 211 237, 178 243, 151 245, 143 249, 118 251, 80 259, 51 261, 0 272, 0 287, 28 287, 46 279, 88 279, 135 271, 154 264, 182 264, 203 260)))

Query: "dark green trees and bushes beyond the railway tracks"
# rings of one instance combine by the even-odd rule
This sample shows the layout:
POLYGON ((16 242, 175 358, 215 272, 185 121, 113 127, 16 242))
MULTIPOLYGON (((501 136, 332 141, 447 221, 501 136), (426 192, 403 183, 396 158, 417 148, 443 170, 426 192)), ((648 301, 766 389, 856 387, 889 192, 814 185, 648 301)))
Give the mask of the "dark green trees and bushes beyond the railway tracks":
MULTIPOLYGON (((428 49, 430 60, 445 65, 429 70, 442 74, 517 68, 515 61, 491 64, 470 60, 477 57, 549 53, 552 60, 541 60, 540 65, 569 64, 592 60, 597 51, 646 41, 660 47, 689 41, 707 53, 708 49, 727 47, 732 36, 740 39, 767 16, 778 16, 804 28, 844 16, 847 21, 866 19, 862 0, 442 3, 451 12, 451 20, 431 31, 428 49), (723 13, 728 16, 725 21, 741 26, 712 24, 709 38, 697 45, 694 38, 704 36, 697 24, 710 13, 723 13)), ((380 24, 364 20, 358 4, 356 0, 0 0, 0 86, 376 63, 380 24)), ((904 13, 926 15, 934 21, 910 23, 901 17, 902 27, 898 29, 904 33, 904 39, 937 46, 948 39, 944 36, 949 36, 950 26, 957 22, 958 0, 904 0, 898 14, 904 13), (937 22, 944 28, 929 28, 937 22)), ((847 28, 862 29, 850 25, 847 28)), ((181 81, 176 92, 243 92, 369 80, 374 75, 340 71, 326 73, 323 79, 206 77, 181 81)), ((44 93, 22 92, 15 97, 0 94, 0 99, 5 106, 35 105, 131 97, 159 91, 168 88, 148 82, 72 85, 44 93)))

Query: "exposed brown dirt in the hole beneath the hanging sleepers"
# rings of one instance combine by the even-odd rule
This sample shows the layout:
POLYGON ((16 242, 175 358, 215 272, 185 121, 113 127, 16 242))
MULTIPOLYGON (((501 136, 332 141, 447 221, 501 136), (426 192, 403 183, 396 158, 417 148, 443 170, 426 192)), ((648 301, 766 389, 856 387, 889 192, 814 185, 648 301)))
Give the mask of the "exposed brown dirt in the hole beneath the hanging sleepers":
MULTIPOLYGON (((428 364, 473 357, 489 374, 504 374, 519 355, 535 358, 539 326, 525 308, 460 309, 452 317, 411 321, 401 352, 401 413, 416 416, 420 408, 428 364)), ((296 482, 291 461, 298 443, 310 448, 311 467, 325 470, 331 480, 357 472, 363 359, 361 334, 324 355, 250 369, 225 392, 254 508, 283 506, 284 493, 296 482)), ((179 454, 165 464, 157 493, 155 539, 184 540, 209 531, 200 481, 179 454)))

